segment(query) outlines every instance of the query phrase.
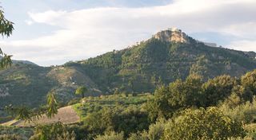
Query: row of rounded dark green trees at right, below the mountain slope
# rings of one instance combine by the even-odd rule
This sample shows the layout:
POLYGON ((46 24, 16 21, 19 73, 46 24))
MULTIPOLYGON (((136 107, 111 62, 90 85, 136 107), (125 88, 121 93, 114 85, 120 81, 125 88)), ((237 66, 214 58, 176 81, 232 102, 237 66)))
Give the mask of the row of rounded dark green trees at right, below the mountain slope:
POLYGON ((147 109, 150 118, 155 120, 158 117, 169 119, 176 111, 189 107, 212 107, 225 100, 231 103, 231 98, 239 98, 239 103, 245 103, 252 101, 256 94, 255 81, 256 70, 241 79, 224 75, 205 83, 202 76, 190 75, 184 81, 176 80, 158 87, 154 99, 147 103, 147 109))

